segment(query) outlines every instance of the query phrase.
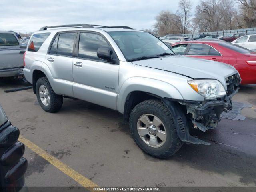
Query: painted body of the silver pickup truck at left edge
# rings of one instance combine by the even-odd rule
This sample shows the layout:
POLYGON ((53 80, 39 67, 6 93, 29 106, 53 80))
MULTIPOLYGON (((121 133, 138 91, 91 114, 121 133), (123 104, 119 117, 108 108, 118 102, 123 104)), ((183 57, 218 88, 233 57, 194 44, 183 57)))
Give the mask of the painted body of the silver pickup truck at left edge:
POLYGON ((20 51, 26 50, 21 47, 17 36, 12 32, 0 32, 1 34, 12 34, 19 42, 19 45, 0 46, 0 77, 17 76, 22 73, 23 54, 20 51))

